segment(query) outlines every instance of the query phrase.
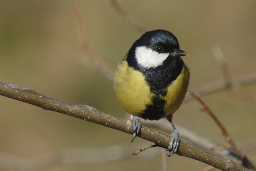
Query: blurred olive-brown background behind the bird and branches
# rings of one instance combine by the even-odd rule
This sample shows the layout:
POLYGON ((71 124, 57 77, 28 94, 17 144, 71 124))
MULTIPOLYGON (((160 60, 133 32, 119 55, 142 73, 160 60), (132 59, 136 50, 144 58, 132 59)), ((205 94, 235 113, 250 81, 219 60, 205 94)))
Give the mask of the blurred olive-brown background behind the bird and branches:
MULTIPOLYGON (((213 55, 219 46, 232 77, 255 72, 256 1, 247 0, 117 0, 147 30, 171 31, 179 40, 190 67, 189 89, 223 78, 213 55)), ((82 16, 91 48, 116 67, 140 34, 102 0, 2 0, 0 2, 0 81, 19 84, 52 98, 86 104, 125 118, 112 82, 86 68, 74 57, 78 44, 72 7, 82 16)), ((256 84, 202 97, 228 129, 237 145, 256 161, 256 84)), ((201 105, 184 103, 173 120, 226 145, 221 131, 201 105)), ((65 148, 124 145, 131 135, 60 113, 0 96, 0 151, 33 158, 65 148)), ((133 143, 152 143, 136 138, 133 143)), ((140 148, 142 148, 140 146, 140 148)), ((139 149, 137 149, 139 150, 139 149)), ((158 149, 160 151, 160 148, 158 149)), ((137 156, 107 163, 64 163, 49 171, 162 170, 161 155, 151 149, 137 156)), ((94 155, 101 156, 101 152, 94 155)), ((207 167, 196 160, 173 155, 168 170, 197 171, 207 167)), ((0 168, 2 171, 8 169, 0 168)))

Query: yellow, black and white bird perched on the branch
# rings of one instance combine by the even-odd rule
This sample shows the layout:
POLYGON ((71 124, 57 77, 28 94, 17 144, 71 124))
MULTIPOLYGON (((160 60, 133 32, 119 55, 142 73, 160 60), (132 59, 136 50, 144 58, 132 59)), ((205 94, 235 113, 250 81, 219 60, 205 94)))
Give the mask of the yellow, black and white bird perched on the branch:
POLYGON ((133 123, 132 141, 140 133, 140 118, 166 118, 171 123, 174 131, 166 148, 168 157, 179 148, 179 132, 172 119, 188 89, 190 70, 181 59, 185 55, 173 33, 148 31, 118 64, 113 81, 116 98, 133 123))

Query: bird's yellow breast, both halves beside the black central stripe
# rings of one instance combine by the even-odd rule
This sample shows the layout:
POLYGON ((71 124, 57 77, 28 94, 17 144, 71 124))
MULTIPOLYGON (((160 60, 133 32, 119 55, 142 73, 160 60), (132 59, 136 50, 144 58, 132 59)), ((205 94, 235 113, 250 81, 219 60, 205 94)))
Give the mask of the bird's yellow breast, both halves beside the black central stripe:
MULTIPOLYGON (((181 74, 168 86, 167 94, 161 96, 165 99, 165 115, 173 114, 185 98, 189 82, 189 71, 184 65, 181 74)), ((116 71, 114 90, 121 106, 128 113, 140 116, 147 106, 152 105, 154 93, 145 80, 145 76, 129 67, 126 61, 122 61, 116 71)))

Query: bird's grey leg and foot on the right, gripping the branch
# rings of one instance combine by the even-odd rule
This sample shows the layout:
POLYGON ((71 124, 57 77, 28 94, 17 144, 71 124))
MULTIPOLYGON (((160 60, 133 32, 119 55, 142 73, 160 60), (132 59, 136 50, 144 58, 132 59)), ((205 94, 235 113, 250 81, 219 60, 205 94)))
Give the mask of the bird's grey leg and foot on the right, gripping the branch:
POLYGON ((166 148, 166 151, 170 151, 170 153, 168 154, 168 157, 170 157, 171 155, 176 153, 179 148, 179 132, 177 131, 176 127, 173 124, 173 115, 167 116, 166 119, 171 123, 171 126, 173 127, 173 132, 170 135, 170 146, 166 148))

